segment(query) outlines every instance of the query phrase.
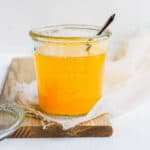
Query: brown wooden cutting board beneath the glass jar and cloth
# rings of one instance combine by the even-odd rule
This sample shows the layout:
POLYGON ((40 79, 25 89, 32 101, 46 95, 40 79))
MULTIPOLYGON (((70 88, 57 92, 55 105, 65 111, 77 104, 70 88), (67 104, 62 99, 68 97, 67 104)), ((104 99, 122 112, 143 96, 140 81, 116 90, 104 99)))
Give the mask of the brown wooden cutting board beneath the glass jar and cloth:
MULTIPOLYGON (((8 75, 2 90, 1 100, 11 99, 16 82, 30 83, 35 80, 34 63, 32 58, 13 59, 8 69, 8 75)), ((42 129, 41 121, 26 117, 21 127, 11 138, 42 138, 42 137, 109 137, 113 129, 109 120, 109 113, 82 122, 77 126, 63 130, 60 124, 54 123, 42 129)))

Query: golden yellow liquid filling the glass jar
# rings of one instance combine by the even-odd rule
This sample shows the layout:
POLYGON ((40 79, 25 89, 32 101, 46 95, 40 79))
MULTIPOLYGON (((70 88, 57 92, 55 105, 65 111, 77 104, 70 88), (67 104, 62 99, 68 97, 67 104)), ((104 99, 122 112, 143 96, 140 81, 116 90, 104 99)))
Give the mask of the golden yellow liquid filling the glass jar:
POLYGON ((57 115, 87 114, 102 96, 105 57, 105 52, 85 57, 35 53, 41 109, 57 115))

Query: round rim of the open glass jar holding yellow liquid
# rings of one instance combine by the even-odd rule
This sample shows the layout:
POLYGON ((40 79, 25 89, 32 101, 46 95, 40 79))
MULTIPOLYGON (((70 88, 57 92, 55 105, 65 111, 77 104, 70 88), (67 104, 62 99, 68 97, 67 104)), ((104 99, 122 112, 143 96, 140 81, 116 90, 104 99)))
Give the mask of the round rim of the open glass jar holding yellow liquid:
POLYGON ((60 31, 62 29, 76 29, 76 30, 89 30, 95 31, 98 33, 100 27, 96 25, 87 25, 87 24, 63 24, 63 25, 51 25, 51 26, 43 26, 40 28, 32 29, 29 34, 34 41, 55 41, 57 42, 93 42, 102 39, 108 39, 111 36, 111 32, 106 29, 101 35, 82 35, 82 36, 65 36, 65 35, 48 35, 47 32, 51 31, 51 33, 60 31), (45 34, 44 34, 45 32, 45 34), (88 40, 90 39, 90 40, 88 40))

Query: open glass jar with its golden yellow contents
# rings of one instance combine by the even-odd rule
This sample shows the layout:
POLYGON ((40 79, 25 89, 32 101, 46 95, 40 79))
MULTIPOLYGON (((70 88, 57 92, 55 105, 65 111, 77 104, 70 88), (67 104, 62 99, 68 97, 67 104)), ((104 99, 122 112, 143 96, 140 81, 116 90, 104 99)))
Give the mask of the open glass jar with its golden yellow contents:
POLYGON ((87 114, 102 97, 107 43, 98 26, 58 25, 30 31, 40 108, 49 114, 87 114))

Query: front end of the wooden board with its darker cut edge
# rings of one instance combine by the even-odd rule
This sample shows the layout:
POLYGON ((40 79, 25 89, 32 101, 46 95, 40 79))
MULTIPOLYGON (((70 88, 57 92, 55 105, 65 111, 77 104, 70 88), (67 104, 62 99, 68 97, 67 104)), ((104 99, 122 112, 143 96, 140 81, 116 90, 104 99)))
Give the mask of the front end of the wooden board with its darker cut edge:
POLYGON ((63 130, 60 124, 52 124, 43 130, 39 119, 27 117, 11 138, 108 137, 111 135, 112 126, 109 123, 109 116, 103 114, 68 130, 63 130))

